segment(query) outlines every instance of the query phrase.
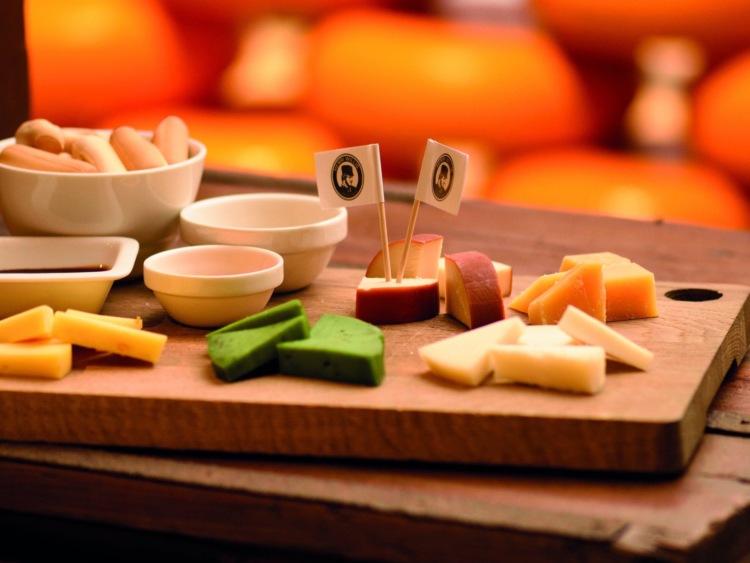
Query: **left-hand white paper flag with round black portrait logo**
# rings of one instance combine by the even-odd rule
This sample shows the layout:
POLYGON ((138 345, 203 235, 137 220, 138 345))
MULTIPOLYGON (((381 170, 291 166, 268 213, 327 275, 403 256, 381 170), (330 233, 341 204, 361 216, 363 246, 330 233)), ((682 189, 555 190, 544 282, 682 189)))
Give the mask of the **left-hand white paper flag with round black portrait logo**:
POLYGON ((316 152, 315 177, 323 209, 386 200, 378 145, 316 152))

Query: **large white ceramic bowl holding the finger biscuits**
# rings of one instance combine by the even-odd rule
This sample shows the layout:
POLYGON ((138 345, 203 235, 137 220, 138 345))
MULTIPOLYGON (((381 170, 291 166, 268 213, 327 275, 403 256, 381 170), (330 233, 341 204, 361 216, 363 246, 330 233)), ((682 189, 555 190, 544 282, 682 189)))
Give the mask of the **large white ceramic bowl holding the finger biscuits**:
MULTIPOLYGON (((142 131, 150 139, 151 133, 142 131)), ((15 143, 0 141, 0 151, 15 143)), ((190 139, 190 158, 150 170, 58 173, 0 164, 0 212, 10 234, 130 236, 145 257, 175 241, 181 209, 195 201, 205 146, 190 139)))

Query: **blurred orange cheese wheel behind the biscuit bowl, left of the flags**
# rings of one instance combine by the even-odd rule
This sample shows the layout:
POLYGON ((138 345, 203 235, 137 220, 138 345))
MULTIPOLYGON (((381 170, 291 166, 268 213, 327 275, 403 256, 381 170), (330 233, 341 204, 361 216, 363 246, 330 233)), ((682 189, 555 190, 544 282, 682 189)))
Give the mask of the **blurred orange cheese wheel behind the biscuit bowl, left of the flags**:
POLYGON ((232 112, 197 107, 169 107, 123 113, 99 126, 130 125, 153 131, 169 114, 187 123, 190 137, 205 144, 206 167, 250 170, 275 176, 315 175, 313 154, 344 146, 313 119, 290 112, 232 112))

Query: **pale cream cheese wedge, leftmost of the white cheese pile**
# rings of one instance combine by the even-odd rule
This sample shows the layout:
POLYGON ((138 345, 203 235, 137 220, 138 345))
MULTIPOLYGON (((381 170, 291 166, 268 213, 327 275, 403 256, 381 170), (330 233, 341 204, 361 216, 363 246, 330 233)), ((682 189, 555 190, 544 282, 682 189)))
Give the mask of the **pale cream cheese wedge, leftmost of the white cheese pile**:
POLYGON ((430 371, 463 385, 481 384, 492 372, 490 348, 512 344, 523 334, 520 318, 484 325, 419 348, 419 356, 430 371))

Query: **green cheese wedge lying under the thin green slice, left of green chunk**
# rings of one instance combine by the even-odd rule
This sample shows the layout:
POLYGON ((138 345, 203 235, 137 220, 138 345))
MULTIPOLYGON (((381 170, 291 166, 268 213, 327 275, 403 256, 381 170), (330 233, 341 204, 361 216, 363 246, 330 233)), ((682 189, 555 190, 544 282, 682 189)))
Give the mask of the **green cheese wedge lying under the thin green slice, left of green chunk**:
POLYGON ((234 330, 208 338, 208 356, 219 379, 239 381, 268 375, 264 366, 276 360, 276 345, 310 336, 308 318, 295 317, 265 327, 234 330))

